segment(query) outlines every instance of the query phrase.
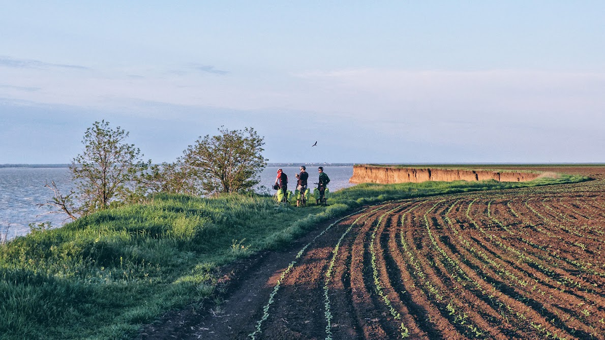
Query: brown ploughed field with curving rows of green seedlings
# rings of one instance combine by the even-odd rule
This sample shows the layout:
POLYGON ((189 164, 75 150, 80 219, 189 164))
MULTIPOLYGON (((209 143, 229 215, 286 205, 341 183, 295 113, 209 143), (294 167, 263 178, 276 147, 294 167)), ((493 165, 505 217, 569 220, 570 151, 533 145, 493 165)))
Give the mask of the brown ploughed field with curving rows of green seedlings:
POLYGON ((169 313, 140 338, 605 339, 605 169, 561 172, 598 179, 318 226, 234 266, 218 310, 169 313))

